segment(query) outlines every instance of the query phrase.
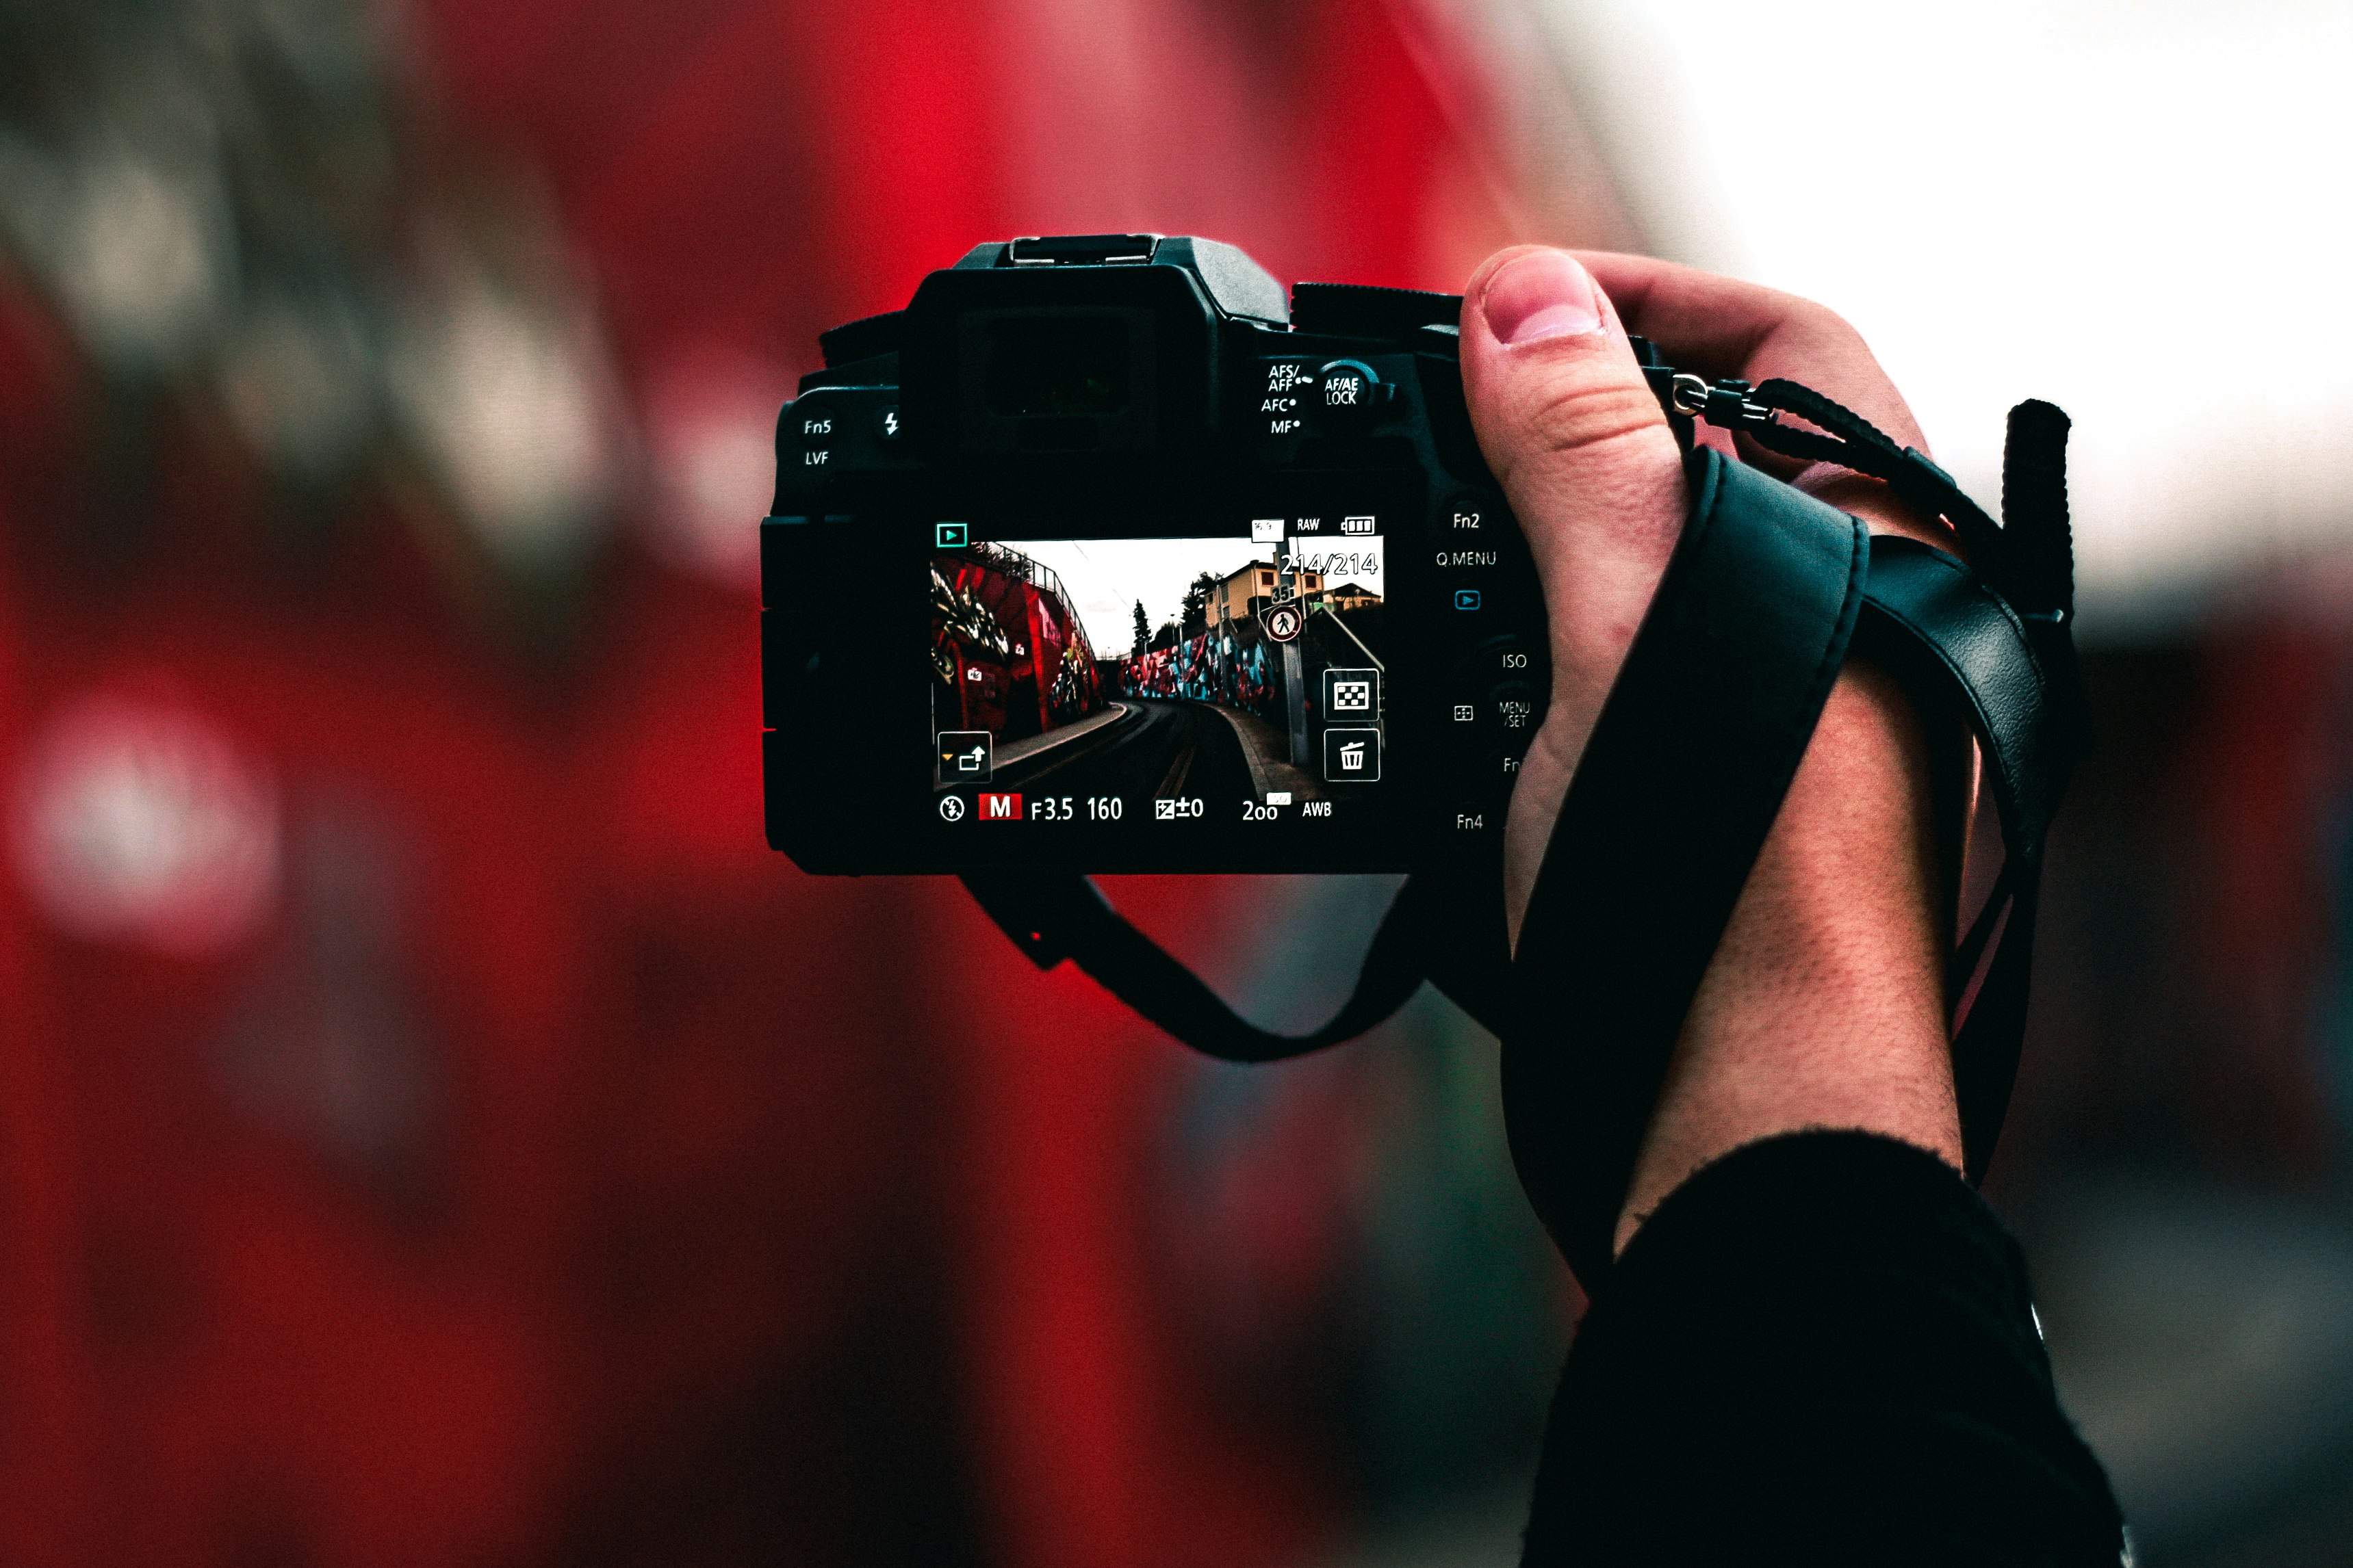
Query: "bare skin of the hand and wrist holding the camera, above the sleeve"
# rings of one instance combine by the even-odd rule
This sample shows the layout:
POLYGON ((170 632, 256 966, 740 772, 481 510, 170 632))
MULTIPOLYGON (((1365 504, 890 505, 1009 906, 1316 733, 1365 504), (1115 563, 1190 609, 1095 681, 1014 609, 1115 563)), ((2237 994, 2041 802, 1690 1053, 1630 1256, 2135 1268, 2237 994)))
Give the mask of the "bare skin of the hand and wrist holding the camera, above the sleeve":
MULTIPOLYGON (((1515 247, 1480 266, 1464 294, 1464 393, 1527 534, 1553 656, 1504 839, 1513 940, 1682 531, 1682 458, 1628 329, 1678 369, 1788 376, 1927 447, 1861 336, 1821 306, 1642 256, 1515 247)), ((1727 449, 1873 531, 1948 548, 1878 480, 1746 440, 1727 449)), ((1960 1164, 1937 882, 1918 722, 1885 675, 1849 665, 1685 1020, 1619 1244, 1694 1168, 1781 1131, 1880 1131, 1960 1164)))

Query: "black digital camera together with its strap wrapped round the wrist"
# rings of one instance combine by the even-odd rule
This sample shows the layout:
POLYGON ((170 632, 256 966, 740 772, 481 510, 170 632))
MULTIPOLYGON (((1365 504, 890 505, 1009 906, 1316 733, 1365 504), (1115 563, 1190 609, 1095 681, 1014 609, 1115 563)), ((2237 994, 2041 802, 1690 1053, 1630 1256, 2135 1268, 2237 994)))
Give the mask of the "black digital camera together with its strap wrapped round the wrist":
POLYGON ((1311 282, 1285 301, 1228 244, 1066 235, 981 244, 906 310, 824 334, 760 529, 769 844, 812 872, 955 872, 1033 964, 1078 964, 1224 1060, 1353 1039, 1428 978, 1504 1037, 1513 1161, 1593 1279, 1692 997, 1861 651, 1944 736, 1948 886, 1972 780, 2000 823, 1948 971, 1981 1178, 2082 752, 2066 414, 2009 411, 1995 522, 1831 397, 1675 371, 1633 339, 1689 515, 1513 945, 1504 813, 1551 672, 1464 407, 1459 310, 1311 282), (1958 552, 1873 541, 1694 444, 1697 421, 1885 482, 1958 552), (1273 1034, 1120 919, 1085 877, 1106 870, 1417 875, 1339 1013, 1273 1034), (1544 1020, 1577 1001, 1567 1046, 1607 1048, 1534 1039, 1522 976, 1544 1020))

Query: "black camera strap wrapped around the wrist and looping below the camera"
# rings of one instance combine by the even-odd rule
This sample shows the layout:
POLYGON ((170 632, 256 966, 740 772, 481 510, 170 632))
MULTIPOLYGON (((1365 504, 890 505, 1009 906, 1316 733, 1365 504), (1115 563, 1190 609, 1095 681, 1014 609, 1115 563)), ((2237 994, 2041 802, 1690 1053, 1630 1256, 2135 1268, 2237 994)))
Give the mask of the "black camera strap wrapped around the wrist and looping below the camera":
MULTIPOLYGON (((1647 374, 1687 447, 1689 421, 1704 418, 1880 477, 1918 512, 1944 517, 1972 564, 1873 541, 1854 517, 1692 449, 1692 517, 1562 802, 1518 957, 1504 936, 1501 851, 1489 846, 1414 875, 1355 994, 1325 1027, 1289 1037, 1235 1016, 1085 877, 965 877, 1040 969, 1071 959, 1224 1060, 1353 1039, 1428 978, 1501 1034, 1513 1159, 1588 1284, 1609 1265, 1682 1018, 1847 656, 1861 649, 1887 668, 1925 715, 1967 722, 2002 827, 2000 877, 1955 945, 1948 985, 1972 1178, 1993 1154, 2017 1077, 2042 839, 2082 743, 2059 409, 2012 411, 2007 522, 1995 524, 1927 456, 1798 383, 1647 374)), ((1953 872, 1969 762, 1955 748, 1937 766, 1953 872)))

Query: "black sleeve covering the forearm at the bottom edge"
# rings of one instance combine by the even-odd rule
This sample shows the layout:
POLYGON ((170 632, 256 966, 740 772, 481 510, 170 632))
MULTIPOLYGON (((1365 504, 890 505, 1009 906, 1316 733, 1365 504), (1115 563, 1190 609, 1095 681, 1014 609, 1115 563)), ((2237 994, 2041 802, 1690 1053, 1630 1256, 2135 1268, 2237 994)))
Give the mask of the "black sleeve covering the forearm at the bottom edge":
POLYGON ((1527 1568, 2129 1563, 2017 1241, 1944 1161, 1793 1133, 1715 1161, 1593 1293, 1527 1568))

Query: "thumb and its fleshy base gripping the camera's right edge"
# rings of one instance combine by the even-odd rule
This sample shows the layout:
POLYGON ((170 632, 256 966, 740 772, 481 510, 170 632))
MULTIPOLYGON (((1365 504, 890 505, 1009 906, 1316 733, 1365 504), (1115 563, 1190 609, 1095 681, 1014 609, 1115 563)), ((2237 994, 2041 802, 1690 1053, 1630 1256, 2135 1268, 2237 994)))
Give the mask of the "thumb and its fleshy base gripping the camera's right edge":
POLYGON ((1682 531, 1682 454, 1609 296, 1567 252, 1515 247, 1464 289, 1464 397, 1527 534, 1551 625, 1553 701, 1513 788, 1513 940, 1602 698, 1682 531))

